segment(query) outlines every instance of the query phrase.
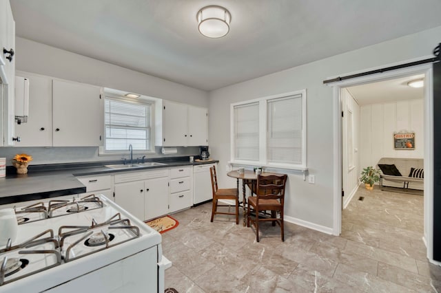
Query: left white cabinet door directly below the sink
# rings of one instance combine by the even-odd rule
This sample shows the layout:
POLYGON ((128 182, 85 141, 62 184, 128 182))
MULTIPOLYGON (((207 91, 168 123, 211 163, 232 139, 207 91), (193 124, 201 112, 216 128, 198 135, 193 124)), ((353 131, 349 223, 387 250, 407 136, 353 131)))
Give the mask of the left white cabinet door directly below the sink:
POLYGON ((141 221, 144 220, 144 182, 115 184, 115 203, 141 221))

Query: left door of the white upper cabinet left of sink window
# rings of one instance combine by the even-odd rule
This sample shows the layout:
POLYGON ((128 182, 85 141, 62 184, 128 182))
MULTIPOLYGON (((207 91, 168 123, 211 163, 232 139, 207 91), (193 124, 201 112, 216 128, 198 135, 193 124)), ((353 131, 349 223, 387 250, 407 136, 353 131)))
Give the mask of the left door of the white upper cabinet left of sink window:
POLYGON ((52 146, 52 78, 17 72, 29 79, 28 122, 16 124, 16 146, 52 146))

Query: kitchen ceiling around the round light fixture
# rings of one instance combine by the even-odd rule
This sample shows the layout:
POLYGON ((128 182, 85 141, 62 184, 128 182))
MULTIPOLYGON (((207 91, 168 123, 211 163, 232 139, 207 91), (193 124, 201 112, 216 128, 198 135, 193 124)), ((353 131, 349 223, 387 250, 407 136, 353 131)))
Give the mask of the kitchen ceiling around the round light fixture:
POLYGON ((10 0, 16 33, 212 90, 441 25, 439 0, 10 0), (208 39, 196 12, 232 14, 208 39))

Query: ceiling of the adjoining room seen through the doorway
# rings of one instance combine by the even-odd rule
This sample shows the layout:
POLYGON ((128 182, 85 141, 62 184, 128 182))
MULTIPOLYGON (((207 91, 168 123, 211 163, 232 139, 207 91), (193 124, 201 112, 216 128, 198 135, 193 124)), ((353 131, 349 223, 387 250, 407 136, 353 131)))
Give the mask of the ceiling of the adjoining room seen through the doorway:
POLYGON ((409 87, 407 83, 418 79, 424 79, 424 74, 356 85, 347 87, 347 89, 360 106, 395 102, 398 100, 416 100, 424 98, 424 88, 409 87))

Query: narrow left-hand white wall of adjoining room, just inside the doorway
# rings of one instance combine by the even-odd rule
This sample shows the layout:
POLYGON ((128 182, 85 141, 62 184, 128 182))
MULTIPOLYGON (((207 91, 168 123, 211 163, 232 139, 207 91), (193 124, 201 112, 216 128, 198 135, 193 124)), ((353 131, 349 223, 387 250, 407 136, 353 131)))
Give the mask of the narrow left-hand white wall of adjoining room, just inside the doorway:
POLYGON ((358 189, 360 136, 363 137, 363 133, 360 131, 360 105, 347 89, 342 89, 341 100, 342 111, 345 113, 342 120, 342 188, 345 191, 343 208, 346 208, 358 189), (349 119, 352 120, 351 127, 348 127, 349 119), (352 142, 350 143, 349 140, 352 142))

